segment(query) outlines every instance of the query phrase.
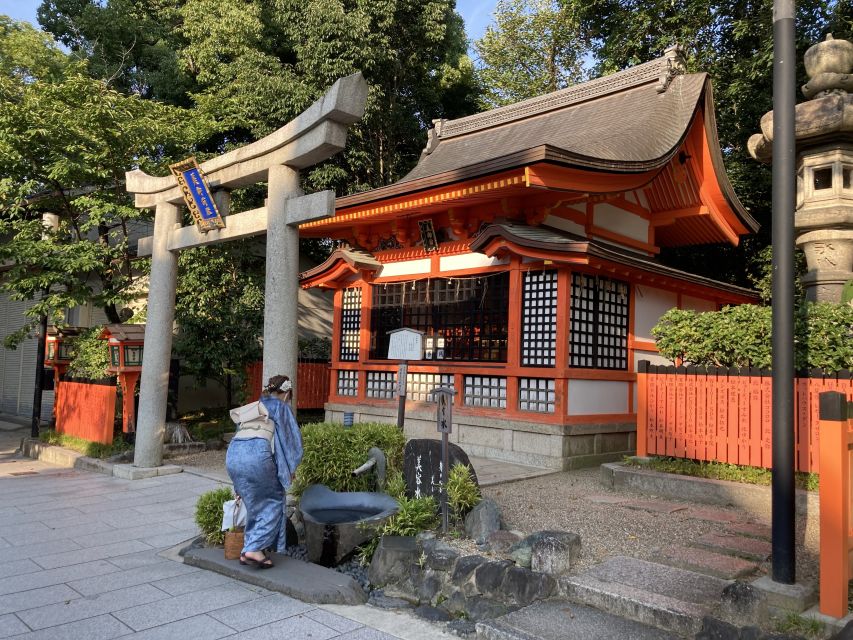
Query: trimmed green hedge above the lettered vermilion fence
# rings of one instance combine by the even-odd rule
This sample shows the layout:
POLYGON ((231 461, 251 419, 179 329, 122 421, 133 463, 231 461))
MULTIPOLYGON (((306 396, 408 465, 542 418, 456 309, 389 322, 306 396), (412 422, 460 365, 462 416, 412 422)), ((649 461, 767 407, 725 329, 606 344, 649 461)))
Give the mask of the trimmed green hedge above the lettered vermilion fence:
MULTIPOLYGON (((806 303, 795 316, 798 369, 853 369, 853 307, 806 303)), ((652 329, 660 354, 673 362, 770 368, 771 309, 756 305, 698 313, 670 309, 652 329)))

